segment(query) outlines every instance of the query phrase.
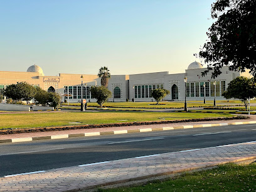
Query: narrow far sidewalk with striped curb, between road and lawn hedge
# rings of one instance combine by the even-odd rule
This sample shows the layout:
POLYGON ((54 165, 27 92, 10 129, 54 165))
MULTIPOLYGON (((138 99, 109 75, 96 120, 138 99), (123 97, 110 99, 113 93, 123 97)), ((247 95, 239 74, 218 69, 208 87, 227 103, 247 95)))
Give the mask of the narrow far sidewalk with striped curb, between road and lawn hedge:
POLYGON ((213 127, 221 125, 235 124, 256 124, 256 116, 250 115, 250 119, 234 120, 212 120, 200 122, 183 122, 173 124, 152 124, 134 125, 127 127, 104 127, 95 129, 74 129, 67 131, 31 132, 23 134, 0 135, 0 143, 4 142, 24 142, 41 139, 64 139, 68 137, 100 136, 105 134, 127 134, 130 132, 165 131, 170 129, 189 129, 197 127, 213 127))

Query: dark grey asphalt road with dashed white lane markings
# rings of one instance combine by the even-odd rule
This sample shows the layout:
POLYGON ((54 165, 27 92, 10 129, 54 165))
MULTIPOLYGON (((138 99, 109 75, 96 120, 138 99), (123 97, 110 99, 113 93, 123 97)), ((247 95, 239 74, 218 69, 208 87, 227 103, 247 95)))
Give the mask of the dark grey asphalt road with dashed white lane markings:
POLYGON ((0 177, 256 141, 256 124, 0 144, 0 177))

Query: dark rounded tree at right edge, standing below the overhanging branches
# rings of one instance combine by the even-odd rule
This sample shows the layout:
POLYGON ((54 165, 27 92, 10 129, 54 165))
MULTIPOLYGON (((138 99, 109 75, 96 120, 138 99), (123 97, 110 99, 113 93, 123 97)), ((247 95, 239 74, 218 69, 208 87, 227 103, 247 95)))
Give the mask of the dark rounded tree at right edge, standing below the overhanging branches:
POLYGON ((245 104, 247 110, 248 99, 256 96, 256 86, 253 83, 253 78, 237 77, 228 83, 227 90, 222 93, 226 99, 239 99, 245 104))

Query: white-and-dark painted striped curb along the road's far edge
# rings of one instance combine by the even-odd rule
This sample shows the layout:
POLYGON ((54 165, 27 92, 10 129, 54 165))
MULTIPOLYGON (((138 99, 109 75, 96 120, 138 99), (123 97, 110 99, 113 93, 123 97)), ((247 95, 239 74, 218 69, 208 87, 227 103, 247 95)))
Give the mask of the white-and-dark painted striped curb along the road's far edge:
POLYGON ((88 132, 82 134, 61 134, 53 136, 42 136, 42 137, 24 137, 14 139, 2 139, 0 143, 6 142, 26 142, 26 141, 37 141, 45 139, 66 139, 69 137, 90 137, 90 136, 103 136, 113 134, 129 134, 132 132, 152 132, 152 131, 168 131, 173 129, 191 129, 200 127, 218 127, 224 125, 243 125, 243 124, 256 124, 256 121, 245 121, 245 122, 232 122, 232 123, 221 123, 221 124, 200 124, 200 125, 183 125, 176 127, 160 127, 160 128, 144 128, 144 129, 132 129, 132 130, 120 130, 120 131, 103 131, 103 132, 88 132))

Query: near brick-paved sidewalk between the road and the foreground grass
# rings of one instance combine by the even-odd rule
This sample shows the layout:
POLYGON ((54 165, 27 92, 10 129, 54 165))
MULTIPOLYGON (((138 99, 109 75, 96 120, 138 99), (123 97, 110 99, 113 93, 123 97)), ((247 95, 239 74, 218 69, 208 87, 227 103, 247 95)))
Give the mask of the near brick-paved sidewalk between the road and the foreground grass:
POLYGON ((0 191, 78 191, 256 158, 256 142, 209 147, 0 178, 0 191))

